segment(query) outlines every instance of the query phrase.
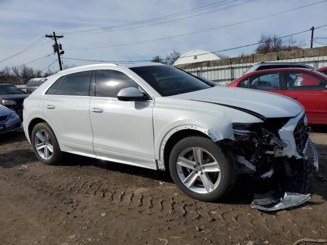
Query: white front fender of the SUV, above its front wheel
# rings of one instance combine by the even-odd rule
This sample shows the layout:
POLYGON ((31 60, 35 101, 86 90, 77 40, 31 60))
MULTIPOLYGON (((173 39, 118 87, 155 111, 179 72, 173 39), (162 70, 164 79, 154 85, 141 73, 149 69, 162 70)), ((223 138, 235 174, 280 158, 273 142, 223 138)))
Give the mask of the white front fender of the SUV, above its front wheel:
POLYGON ((153 110, 155 158, 163 162, 165 143, 179 130, 196 130, 215 142, 222 139, 234 140, 233 122, 254 123, 262 120, 220 105, 158 97, 153 110))

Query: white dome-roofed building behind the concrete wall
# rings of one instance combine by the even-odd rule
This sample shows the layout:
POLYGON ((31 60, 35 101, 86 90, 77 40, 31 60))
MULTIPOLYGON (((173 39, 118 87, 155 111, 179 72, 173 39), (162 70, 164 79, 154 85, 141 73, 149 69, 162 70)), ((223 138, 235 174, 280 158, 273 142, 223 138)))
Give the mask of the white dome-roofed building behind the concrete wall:
POLYGON ((227 59, 229 56, 218 54, 218 53, 210 53, 204 50, 195 50, 181 55, 174 63, 174 65, 182 65, 189 64, 201 61, 209 61, 209 60, 222 60, 227 59))

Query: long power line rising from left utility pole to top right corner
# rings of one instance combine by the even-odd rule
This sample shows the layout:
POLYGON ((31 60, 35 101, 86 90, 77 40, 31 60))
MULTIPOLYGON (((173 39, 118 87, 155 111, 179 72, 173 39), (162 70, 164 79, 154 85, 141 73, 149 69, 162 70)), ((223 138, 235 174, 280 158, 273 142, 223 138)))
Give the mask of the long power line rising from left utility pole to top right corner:
POLYGON ((221 28, 225 28, 225 27, 236 26, 238 24, 248 23, 248 22, 251 22, 251 21, 254 21, 254 20, 264 19, 264 18, 268 18, 268 17, 271 17, 271 16, 279 15, 279 14, 284 14, 284 13, 291 12, 291 11, 294 11, 294 10, 297 10, 297 9, 309 7, 309 6, 316 5, 316 4, 320 4, 320 3, 323 3, 323 2, 327 2, 327 0, 320 1, 320 2, 317 2, 317 3, 313 3, 313 4, 309 4, 309 5, 305 5, 305 6, 300 6, 300 7, 294 8, 294 9, 290 9, 290 10, 286 10, 286 11, 282 11, 282 12, 278 12, 278 13, 274 13, 274 14, 270 14, 270 15, 266 15, 266 16, 254 18, 254 19, 250 19, 250 20, 245 20, 245 21, 241 21, 241 22, 227 24, 225 26, 220 26, 220 27, 215 27, 215 28, 200 30, 200 31, 191 32, 191 33, 184 33, 184 34, 179 34, 179 35, 170 36, 170 37, 157 38, 157 39, 152 39, 152 40, 147 40, 147 41, 130 42, 130 43, 124 43, 124 44, 116 44, 116 45, 110 45, 110 46, 71 48, 71 49, 68 49, 68 50, 71 50, 71 51, 73 51, 73 50, 92 50, 92 49, 97 49, 97 48, 119 47, 119 46, 133 45, 133 44, 148 43, 148 42, 159 41, 159 40, 166 40, 166 39, 171 39, 171 38, 175 38, 175 37, 182 37, 182 36, 192 35, 192 34, 196 34, 196 33, 213 31, 213 30, 217 30, 217 29, 221 29, 221 28))

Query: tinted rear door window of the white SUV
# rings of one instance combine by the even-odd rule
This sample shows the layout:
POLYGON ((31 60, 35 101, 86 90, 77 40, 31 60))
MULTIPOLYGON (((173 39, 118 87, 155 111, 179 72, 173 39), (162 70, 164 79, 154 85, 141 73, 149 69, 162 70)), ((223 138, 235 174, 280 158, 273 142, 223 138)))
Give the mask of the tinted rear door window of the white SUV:
POLYGON ((66 75, 59 84, 56 95, 88 96, 92 71, 66 75))

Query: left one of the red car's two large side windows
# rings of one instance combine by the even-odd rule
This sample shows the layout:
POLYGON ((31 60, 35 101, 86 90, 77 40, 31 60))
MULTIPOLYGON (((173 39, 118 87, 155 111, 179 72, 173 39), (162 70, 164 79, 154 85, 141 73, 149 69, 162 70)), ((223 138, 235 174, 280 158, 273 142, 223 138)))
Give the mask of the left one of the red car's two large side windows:
POLYGON ((259 90, 278 90, 278 72, 253 75, 249 79, 249 87, 259 90))

